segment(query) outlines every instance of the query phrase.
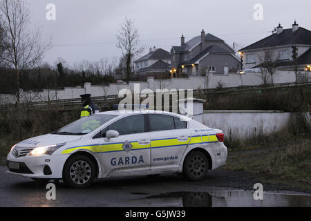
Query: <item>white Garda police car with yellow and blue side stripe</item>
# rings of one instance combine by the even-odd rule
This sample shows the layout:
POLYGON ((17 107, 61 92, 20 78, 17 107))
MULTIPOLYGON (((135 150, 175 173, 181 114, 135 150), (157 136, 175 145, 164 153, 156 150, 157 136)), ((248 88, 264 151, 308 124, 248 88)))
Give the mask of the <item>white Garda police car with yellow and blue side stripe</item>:
POLYGON ((162 111, 107 111, 12 146, 8 172, 75 188, 94 178, 183 173, 200 180, 225 164, 223 133, 162 111))

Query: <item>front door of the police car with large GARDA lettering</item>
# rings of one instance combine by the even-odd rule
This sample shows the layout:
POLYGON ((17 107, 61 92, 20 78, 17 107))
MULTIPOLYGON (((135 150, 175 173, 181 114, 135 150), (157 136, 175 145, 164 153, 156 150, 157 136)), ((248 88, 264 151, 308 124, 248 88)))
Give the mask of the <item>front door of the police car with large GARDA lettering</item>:
POLYGON ((104 175, 150 171, 150 136, 145 117, 123 117, 104 129, 100 142, 104 175), (109 130, 117 131, 119 137, 107 141, 104 134, 109 130))

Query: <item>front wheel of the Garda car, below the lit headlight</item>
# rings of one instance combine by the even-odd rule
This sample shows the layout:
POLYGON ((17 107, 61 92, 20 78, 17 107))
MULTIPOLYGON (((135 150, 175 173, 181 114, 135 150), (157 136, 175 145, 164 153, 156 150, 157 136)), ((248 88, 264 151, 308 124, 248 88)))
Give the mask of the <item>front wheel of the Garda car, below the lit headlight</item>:
POLYGON ((73 188, 86 188, 93 183, 95 166, 88 157, 77 155, 66 163, 63 177, 73 188))

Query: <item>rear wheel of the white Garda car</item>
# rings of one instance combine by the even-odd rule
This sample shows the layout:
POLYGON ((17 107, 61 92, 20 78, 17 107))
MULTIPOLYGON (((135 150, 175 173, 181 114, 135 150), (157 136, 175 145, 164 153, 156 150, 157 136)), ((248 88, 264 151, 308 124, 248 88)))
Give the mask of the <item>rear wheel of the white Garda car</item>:
POLYGON ((185 158, 182 173, 188 180, 201 180, 209 170, 209 162, 204 153, 194 151, 185 158))

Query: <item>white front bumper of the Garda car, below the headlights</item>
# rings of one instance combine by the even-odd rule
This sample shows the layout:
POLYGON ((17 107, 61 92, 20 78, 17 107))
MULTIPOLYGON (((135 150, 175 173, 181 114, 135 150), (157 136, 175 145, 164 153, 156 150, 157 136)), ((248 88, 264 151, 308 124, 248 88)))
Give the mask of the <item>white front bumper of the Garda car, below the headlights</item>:
POLYGON ((41 155, 15 157, 8 154, 6 173, 30 178, 62 179, 64 164, 69 155, 41 155), (9 167, 17 166, 17 167, 9 167))

